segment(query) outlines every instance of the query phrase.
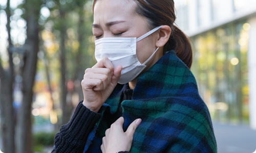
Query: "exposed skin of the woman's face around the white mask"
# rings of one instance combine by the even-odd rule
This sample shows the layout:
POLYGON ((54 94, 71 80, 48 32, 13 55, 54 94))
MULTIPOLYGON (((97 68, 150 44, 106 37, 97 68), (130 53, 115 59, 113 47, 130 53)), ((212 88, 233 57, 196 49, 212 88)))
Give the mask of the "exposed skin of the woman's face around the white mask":
MULTIPOLYGON (((141 37, 151 29, 145 18, 135 12, 134 0, 98 0, 94 7, 93 35, 95 39, 109 37, 141 37)), ((157 49, 158 34, 155 32, 137 42, 136 54, 140 63, 144 63, 157 49)), ((159 49, 160 50, 160 49, 159 49)), ((160 52, 156 54, 159 55, 160 52)), ((146 65, 150 68, 158 56, 154 56, 146 65)))

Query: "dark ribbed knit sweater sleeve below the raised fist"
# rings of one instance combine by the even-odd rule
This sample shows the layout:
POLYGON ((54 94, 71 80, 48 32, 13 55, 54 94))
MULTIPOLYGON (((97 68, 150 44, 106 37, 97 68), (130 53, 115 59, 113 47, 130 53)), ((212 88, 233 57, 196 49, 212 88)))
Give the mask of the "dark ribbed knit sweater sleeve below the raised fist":
POLYGON ((89 110, 80 101, 71 120, 62 125, 60 131, 55 135, 52 153, 82 152, 87 138, 100 116, 100 113, 89 110))

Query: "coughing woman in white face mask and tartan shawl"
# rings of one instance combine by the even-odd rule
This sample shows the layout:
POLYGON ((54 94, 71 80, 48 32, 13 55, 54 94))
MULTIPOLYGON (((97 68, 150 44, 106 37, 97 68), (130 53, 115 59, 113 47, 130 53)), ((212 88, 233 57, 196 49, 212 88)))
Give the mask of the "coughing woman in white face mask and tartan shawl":
POLYGON ((174 1, 95 0, 93 11, 97 64, 52 152, 217 152, 174 1))

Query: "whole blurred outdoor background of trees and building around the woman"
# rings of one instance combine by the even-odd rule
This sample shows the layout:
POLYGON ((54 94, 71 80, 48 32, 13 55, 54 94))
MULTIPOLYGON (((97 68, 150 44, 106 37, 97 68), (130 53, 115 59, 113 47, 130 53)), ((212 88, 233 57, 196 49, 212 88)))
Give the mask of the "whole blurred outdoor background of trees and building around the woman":
MULTIPOLYGON (((0 0, 0 152, 51 152, 92 67, 92 0, 0 0)), ((176 0, 218 152, 256 152, 256 1, 176 0)))

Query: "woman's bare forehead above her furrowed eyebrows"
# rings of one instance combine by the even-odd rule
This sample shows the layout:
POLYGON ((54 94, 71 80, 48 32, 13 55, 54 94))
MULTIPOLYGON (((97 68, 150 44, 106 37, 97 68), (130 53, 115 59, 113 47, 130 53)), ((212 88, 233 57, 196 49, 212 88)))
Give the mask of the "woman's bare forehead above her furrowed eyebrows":
POLYGON ((133 0, 98 0, 94 7, 94 22, 130 20, 135 14, 133 0))

